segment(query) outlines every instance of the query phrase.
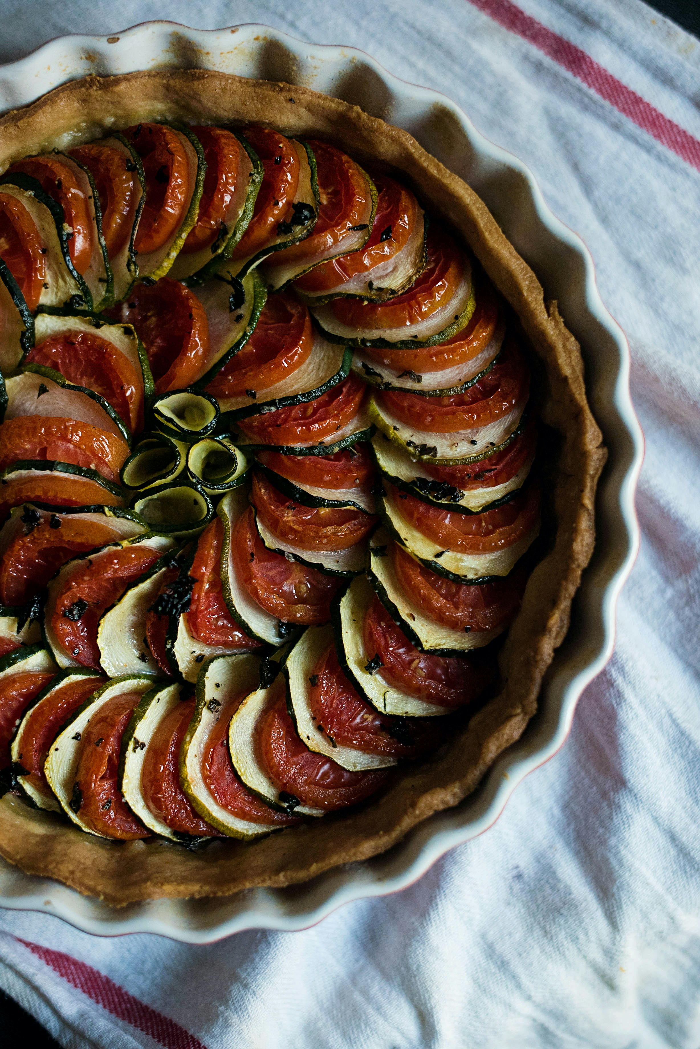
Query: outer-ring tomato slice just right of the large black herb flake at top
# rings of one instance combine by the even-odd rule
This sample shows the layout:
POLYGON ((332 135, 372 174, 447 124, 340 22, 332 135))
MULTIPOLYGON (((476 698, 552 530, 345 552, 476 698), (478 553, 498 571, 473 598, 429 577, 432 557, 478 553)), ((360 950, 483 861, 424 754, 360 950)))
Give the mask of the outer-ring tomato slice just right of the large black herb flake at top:
MULTIPOLYGON (((316 157, 320 206, 307 237, 275 255, 275 264, 314 261, 339 249, 348 230, 367 222, 372 196, 359 165, 326 142, 309 140, 316 157)), ((365 226, 366 228, 366 226, 365 226)))

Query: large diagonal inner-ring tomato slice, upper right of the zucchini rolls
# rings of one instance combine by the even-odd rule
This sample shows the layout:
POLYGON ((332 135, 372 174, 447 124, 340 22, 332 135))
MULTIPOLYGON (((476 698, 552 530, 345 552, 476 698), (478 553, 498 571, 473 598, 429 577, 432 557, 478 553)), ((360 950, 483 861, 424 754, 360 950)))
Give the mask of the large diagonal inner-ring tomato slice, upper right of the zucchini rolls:
POLYGON ((268 298, 252 336, 209 384, 217 398, 267 389, 300 368, 311 355, 311 314, 289 292, 268 298))

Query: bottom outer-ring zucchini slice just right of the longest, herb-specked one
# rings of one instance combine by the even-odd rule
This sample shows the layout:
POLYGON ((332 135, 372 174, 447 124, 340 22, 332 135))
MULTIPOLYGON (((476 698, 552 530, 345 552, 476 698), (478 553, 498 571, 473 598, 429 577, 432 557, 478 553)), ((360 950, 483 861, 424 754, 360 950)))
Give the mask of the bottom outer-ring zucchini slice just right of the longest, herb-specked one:
POLYGON ((269 707, 284 695, 284 678, 277 675, 271 685, 257 688, 246 697, 229 726, 231 761, 248 789, 272 809, 295 816, 323 816, 323 809, 295 804, 296 798, 285 802, 257 755, 255 734, 258 721, 269 707))

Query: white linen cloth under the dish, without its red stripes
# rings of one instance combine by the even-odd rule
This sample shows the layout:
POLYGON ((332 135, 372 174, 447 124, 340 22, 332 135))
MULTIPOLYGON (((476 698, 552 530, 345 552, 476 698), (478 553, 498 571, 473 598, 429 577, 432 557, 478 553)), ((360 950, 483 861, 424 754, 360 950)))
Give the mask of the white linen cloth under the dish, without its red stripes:
MULTIPOLYGON (((63 1046, 700 1044, 700 172, 485 5, 496 6, 0 2, 5 61, 54 35, 118 33, 149 18, 204 28, 259 21, 360 47, 445 91, 530 166, 552 210, 589 244, 602 298, 630 338, 648 443, 643 541, 619 602, 615 656, 581 698, 566 746, 495 826, 410 889, 301 933, 189 947, 97 939, 55 918, 0 912, 0 985, 63 1046), (82 960, 179 1026, 139 1021, 137 1009, 127 1009, 135 1024, 118 1019, 123 1006, 94 1004, 17 937, 82 960)), ((694 38, 638 0, 518 5, 700 140, 694 38)))

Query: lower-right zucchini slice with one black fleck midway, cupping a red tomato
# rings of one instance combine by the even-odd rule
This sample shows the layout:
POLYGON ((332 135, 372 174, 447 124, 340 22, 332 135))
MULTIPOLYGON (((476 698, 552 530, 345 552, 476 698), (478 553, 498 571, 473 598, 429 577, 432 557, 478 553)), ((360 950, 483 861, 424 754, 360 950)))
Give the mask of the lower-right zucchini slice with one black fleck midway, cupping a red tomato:
POLYGON ((364 647, 364 617, 374 599, 365 576, 358 576, 334 609, 338 661, 361 695, 383 714, 401 718, 432 718, 453 713, 452 707, 426 703, 387 683, 372 669, 376 652, 364 647), (369 669, 368 669, 369 668, 369 669))

